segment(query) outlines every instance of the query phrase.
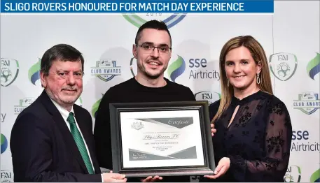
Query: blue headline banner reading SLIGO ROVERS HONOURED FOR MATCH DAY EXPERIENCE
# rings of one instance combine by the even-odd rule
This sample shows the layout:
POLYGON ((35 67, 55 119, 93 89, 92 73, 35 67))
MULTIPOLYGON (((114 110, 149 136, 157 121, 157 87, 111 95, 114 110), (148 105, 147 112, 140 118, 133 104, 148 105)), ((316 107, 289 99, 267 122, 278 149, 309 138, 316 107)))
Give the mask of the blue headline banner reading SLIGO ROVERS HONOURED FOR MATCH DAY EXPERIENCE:
POLYGON ((274 13, 273 0, 18 1, 1 0, 1 13, 274 13))

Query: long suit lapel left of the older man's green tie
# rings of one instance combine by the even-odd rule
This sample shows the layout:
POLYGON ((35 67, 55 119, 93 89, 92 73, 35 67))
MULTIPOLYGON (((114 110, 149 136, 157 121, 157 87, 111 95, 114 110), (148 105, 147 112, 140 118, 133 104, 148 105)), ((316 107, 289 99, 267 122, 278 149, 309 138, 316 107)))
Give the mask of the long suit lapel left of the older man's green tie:
POLYGON ((76 146, 76 142, 74 142, 74 137, 71 135, 68 126, 62 118, 59 110, 57 110, 53 102, 50 100, 48 94, 46 94, 46 91, 43 90, 43 93, 40 97, 41 103, 43 103, 48 112, 53 116, 53 120, 56 122, 58 128, 60 129, 60 132, 62 133, 62 136, 67 143, 67 147, 69 147, 69 152, 71 152, 71 154, 73 154, 73 156, 76 158, 83 171, 88 174, 88 169, 85 167, 85 163, 78 150, 78 147, 76 146))

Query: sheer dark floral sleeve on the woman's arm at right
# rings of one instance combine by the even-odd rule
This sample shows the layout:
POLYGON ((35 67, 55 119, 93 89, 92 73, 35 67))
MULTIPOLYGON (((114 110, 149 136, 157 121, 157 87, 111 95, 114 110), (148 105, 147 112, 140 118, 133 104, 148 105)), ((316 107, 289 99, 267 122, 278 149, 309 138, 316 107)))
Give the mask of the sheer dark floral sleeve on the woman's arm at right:
POLYGON ((292 137, 291 119, 281 101, 270 105, 267 115, 265 157, 249 161, 242 156, 228 156, 230 171, 240 182, 272 182, 286 173, 292 137))

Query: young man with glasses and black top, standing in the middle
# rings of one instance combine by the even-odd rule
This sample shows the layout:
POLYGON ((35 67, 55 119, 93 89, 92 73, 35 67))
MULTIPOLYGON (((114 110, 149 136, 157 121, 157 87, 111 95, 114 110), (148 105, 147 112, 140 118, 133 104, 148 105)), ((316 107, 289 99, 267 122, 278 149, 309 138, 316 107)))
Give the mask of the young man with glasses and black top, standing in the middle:
MULTIPOLYGON (((112 169, 109 103, 195 101, 188 87, 164 77, 172 54, 172 39, 164 22, 151 20, 143 24, 137 32, 132 53, 137 59, 137 75, 111 87, 97 110, 94 136, 99 166, 103 168, 112 169)), ((139 181, 190 182, 190 177, 150 176, 139 181)))

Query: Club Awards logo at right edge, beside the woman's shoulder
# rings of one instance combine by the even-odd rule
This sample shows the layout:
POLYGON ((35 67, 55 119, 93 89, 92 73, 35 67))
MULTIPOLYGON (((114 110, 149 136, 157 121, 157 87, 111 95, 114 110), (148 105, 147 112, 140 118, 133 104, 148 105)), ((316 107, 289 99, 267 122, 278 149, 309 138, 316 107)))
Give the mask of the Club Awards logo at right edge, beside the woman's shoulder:
POLYGON ((293 101, 293 108, 311 115, 320 108, 319 94, 314 94, 314 92, 299 94, 298 100, 293 101))

